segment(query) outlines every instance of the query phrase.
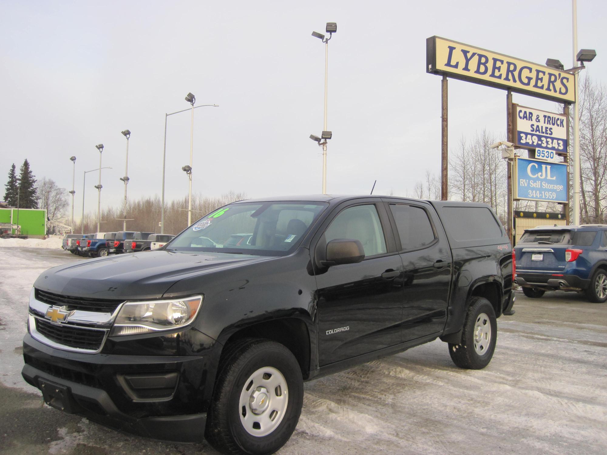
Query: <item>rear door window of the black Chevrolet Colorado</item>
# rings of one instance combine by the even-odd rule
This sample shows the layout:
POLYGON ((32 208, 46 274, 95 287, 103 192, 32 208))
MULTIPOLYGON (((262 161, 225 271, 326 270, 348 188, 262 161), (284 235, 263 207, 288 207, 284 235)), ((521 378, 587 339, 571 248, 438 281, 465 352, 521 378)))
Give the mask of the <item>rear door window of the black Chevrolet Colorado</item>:
POLYGON ((434 230, 424 209, 403 204, 390 204, 390 210, 403 250, 424 248, 434 241, 434 230))

